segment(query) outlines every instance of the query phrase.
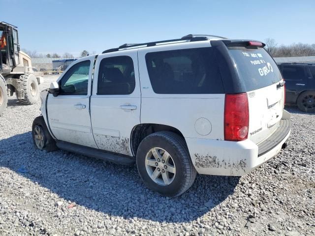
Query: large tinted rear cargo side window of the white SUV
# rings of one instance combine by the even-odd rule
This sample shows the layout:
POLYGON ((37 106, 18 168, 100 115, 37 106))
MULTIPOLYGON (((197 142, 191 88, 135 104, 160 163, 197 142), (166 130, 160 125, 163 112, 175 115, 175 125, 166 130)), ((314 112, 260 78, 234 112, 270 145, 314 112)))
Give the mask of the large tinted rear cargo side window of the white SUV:
POLYGON ((146 54, 153 90, 162 94, 224 93, 212 48, 146 54))

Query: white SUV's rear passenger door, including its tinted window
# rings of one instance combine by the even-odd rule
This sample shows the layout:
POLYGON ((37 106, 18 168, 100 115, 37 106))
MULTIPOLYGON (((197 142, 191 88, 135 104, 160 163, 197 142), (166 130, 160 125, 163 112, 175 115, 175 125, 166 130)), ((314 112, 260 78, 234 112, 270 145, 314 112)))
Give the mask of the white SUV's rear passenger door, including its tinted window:
POLYGON ((98 148, 132 155, 130 133, 140 123, 140 84, 135 50, 110 57, 99 55, 95 64, 91 118, 98 148))

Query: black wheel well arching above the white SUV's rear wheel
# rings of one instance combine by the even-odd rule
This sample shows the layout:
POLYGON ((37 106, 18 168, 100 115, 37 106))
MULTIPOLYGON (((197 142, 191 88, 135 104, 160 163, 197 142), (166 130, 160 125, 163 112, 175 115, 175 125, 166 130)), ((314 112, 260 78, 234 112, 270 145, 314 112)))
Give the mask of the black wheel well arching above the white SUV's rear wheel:
MULTIPOLYGON (((134 156, 136 156, 138 147, 141 143, 141 141, 147 137, 150 134, 159 132, 159 131, 171 131, 174 132, 181 137, 184 138, 184 135, 179 131, 177 128, 174 128, 169 125, 165 124, 138 124, 135 127, 133 127, 131 135, 130 135, 130 145, 131 145, 131 151, 134 156)), ((184 138, 185 140, 185 138, 184 138)), ((186 143, 186 142, 185 142, 186 143)))

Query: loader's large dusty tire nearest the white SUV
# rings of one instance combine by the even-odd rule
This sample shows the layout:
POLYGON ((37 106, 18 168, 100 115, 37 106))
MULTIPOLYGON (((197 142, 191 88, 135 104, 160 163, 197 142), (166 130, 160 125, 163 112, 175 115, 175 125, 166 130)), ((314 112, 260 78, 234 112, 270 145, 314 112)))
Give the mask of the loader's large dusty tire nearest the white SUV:
POLYGON ((20 80, 24 89, 24 98, 18 98, 18 100, 27 105, 37 102, 39 98, 39 85, 36 77, 33 74, 26 73, 20 76, 20 80))

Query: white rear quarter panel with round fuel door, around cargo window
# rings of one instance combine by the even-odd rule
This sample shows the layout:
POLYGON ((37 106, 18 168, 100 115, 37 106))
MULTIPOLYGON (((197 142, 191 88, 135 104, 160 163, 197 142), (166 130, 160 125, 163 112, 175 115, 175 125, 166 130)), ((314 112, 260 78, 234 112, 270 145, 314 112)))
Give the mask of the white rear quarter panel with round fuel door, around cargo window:
MULTIPOLYGON (((191 42, 181 44, 176 49, 209 46, 209 41, 191 42)), ((141 123, 175 127, 185 138, 223 140, 224 94, 157 94, 152 89, 145 55, 149 52, 172 49, 173 45, 167 45, 162 48, 157 46, 138 50, 141 123)))

